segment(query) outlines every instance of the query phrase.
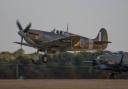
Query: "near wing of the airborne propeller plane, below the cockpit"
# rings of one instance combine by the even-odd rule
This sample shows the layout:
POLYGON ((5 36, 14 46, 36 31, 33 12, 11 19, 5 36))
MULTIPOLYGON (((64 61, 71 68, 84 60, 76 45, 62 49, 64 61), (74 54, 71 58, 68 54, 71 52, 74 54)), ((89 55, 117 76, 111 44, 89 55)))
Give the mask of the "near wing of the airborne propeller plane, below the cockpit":
POLYGON ((44 42, 43 47, 45 48, 68 48, 76 44, 80 40, 80 36, 71 35, 64 38, 58 38, 52 41, 44 42))

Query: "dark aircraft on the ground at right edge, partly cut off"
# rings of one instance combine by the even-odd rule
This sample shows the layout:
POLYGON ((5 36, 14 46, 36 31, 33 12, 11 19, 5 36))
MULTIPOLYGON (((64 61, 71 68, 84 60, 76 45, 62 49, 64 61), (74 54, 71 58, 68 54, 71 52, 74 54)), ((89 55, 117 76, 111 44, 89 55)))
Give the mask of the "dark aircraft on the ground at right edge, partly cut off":
POLYGON ((114 78, 117 73, 128 72, 128 54, 118 52, 100 55, 92 64, 99 70, 108 71, 108 78, 114 78))

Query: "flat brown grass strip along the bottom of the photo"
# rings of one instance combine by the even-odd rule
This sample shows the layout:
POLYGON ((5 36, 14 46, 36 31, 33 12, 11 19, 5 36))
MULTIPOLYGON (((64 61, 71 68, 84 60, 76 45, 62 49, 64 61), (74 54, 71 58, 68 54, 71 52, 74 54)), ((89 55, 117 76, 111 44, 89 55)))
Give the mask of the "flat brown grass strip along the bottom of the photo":
POLYGON ((128 80, 0 80, 0 89, 128 89, 128 80))

